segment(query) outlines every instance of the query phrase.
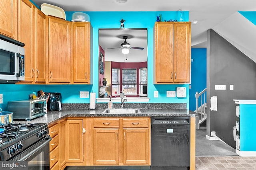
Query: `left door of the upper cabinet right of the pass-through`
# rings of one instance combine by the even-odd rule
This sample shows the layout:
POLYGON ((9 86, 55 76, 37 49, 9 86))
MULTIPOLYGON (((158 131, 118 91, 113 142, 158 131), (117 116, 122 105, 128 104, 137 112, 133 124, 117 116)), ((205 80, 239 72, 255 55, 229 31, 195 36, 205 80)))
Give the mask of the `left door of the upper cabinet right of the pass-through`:
POLYGON ((155 25, 155 82, 173 82, 173 24, 155 25))

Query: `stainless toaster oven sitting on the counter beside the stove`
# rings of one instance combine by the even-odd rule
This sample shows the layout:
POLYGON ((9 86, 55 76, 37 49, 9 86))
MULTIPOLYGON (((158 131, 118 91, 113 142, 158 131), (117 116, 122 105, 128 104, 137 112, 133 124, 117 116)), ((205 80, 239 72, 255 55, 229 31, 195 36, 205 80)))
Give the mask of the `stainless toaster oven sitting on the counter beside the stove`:
POLYGON ((12 119, 30 121, 47 113, 46 99, 17 100, 7 103, 7 110, 13 112, 12 119))

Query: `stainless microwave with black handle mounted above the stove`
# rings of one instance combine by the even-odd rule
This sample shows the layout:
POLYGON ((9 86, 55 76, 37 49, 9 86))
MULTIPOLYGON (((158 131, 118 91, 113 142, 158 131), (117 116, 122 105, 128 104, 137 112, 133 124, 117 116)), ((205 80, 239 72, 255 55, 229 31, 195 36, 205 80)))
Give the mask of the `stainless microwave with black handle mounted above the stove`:
POLYGON ((0 35, 0 83, 25 80, 24 43, 0 35))

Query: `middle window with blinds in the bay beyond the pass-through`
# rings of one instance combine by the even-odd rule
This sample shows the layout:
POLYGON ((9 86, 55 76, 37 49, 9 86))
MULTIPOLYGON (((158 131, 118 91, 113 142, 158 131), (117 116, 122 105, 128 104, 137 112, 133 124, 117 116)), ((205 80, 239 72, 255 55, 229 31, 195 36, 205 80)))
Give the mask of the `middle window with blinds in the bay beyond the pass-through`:
POLYGON ((137 95, 137 69, 122 69, 122 91, 125 95, 137 95))

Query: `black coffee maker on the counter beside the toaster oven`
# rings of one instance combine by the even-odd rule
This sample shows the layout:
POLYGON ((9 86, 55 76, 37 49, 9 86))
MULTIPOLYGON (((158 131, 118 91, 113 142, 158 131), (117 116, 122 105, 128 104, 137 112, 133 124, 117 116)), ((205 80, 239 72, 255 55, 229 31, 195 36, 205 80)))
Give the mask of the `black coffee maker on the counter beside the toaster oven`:
POLYGON ((62 110, 62 97, 60 93, 48 92, 49 96, 47 102, 47 111, 61 111, 62 110))

